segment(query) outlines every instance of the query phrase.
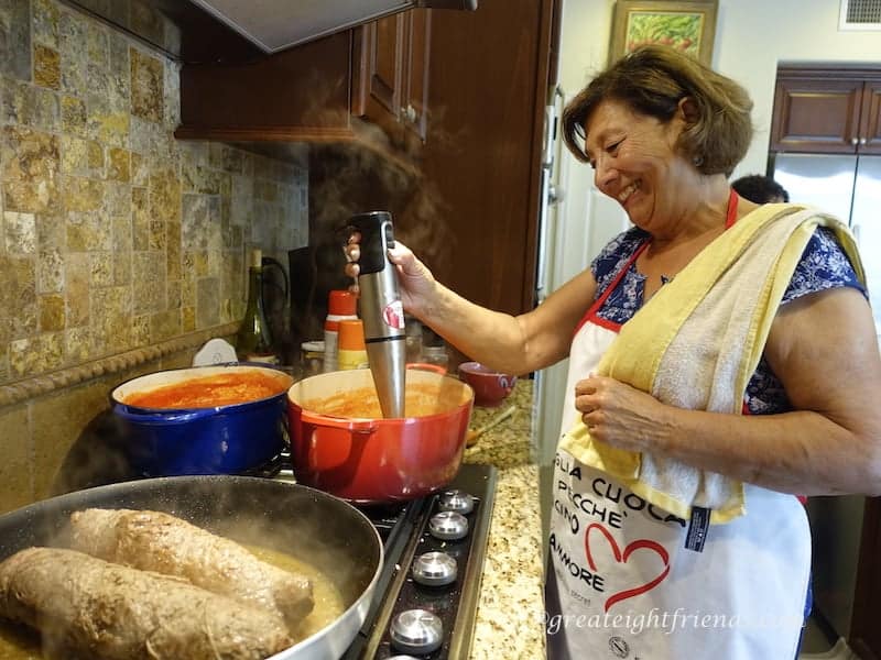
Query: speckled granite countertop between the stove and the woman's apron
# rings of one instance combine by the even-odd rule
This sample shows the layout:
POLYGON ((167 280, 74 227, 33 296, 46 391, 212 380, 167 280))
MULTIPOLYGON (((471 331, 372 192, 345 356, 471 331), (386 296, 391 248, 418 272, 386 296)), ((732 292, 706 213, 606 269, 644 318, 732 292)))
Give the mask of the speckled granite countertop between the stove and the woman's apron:
POLYGON ((539 468, 531 459, 532 381, 520 380, 497 408, 475 407, 470 428, 482 427, 512 404, 512 416, 465 450, 465 462, 499 470, 472 660, 545 657, 539 468))

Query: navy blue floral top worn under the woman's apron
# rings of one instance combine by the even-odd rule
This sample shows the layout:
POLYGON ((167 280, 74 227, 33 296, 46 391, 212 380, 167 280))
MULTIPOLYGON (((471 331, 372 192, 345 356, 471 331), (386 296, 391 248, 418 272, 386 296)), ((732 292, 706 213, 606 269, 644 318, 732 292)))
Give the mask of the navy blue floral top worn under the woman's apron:
MULTIPOLYGON (((640 245, 649 239, 648 232, 633 227, 609 242, 590 264, 597 280, 597 298, 608 288, 622 267, 633 256, 640 245)), ((597 315, 614 323, 624 323, 642 306, 642 292, 645 276, 631 264, 616 289, 609 294, 597 315)), ((866 295, 866 289, 835 234, 826 228, 818 228, 807 243, 802 258, 793 273, 790 286, 783 294, 781 305, 800 296, 824 289, 850 286, 866 295)), ((791 410, 792 406, 764 358, 747 386, 747 407, 752 415, 768 415, 791 410)))

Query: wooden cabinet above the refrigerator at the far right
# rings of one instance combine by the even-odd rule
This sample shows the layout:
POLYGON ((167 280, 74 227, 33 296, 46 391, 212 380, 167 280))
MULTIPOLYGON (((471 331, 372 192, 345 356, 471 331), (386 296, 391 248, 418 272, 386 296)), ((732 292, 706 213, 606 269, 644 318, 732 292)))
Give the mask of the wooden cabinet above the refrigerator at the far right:
POLYGON ((781 65, 770 151, 881 153, 881 68, 781 65))

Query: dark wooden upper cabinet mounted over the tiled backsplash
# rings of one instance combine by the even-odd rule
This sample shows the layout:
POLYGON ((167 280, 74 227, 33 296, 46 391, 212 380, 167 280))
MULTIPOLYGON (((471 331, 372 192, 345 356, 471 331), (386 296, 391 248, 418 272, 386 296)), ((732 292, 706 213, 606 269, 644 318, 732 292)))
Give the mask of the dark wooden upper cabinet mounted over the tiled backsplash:
POLYGON ((426 134, 429 25, 431 10, 410 10, 247 64, 185 65, 175 135, 335 143, 369 135, 362 118, 412 147, 426 134))

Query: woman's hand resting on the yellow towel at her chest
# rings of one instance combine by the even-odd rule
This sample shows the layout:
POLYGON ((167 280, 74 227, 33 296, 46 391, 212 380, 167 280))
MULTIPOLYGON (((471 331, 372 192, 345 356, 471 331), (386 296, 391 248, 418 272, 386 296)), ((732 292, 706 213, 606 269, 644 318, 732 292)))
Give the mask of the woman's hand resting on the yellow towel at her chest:
POLYGON ((651 394, 591 375, 576 383, 575 407, 595 440, 626 451, 663 451, 666 406, 651 394))

